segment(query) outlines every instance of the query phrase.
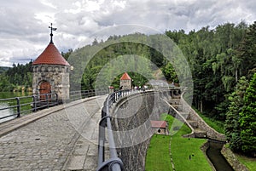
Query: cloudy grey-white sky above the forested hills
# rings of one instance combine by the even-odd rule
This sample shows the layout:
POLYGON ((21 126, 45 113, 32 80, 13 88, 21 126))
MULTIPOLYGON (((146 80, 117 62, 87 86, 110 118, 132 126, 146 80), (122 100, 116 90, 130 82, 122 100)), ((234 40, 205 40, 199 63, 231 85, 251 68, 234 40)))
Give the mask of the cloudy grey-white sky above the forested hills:
MULTIPOLYGON (((57 27, 60 51, 79 48, 96 32, 122 25, 195 31, 241 20, 256 20, 255 0, 0 0, 0 66, 35 60, 49 43, 50 23, 57 27)), ((124 33, 129 33, 125 32, 124 33)), ((114 34, 114 32, 113 32, 114 34)))

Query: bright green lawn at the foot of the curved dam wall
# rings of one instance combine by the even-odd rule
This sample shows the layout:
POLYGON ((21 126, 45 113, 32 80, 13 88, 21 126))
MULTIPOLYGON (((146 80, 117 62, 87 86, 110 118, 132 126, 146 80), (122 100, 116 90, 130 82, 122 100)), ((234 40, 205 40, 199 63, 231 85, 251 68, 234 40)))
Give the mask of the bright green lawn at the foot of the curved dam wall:
MULTIPOLYGON (((174 118, 169 115, 162 115, 161 118, 169 123, 169 128, 171 128, 170 132, 173 134, 171 151, 175 169, 177 171, 212 170, 207 162, 207 157, 205 157, 200 149, 201 145, 207 140, 183 138, 183 134, 189 134, 191 132, 186 125, 174 120, 174 118), (181 128, 177 131, 172 130, 177 127, 181 128)), ((172 163, 169 155, 170 138, 170 135, 160 134, 152 137, 147 151, 146 171, 172 170, 172 163)))

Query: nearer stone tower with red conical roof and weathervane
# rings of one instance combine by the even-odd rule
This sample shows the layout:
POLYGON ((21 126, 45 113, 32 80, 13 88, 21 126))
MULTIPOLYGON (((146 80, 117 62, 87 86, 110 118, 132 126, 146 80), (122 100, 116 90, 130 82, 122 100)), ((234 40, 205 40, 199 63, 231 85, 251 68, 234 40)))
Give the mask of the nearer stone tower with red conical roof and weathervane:
POLYGON ((33 94, 58 94, 59 102, 69 100, 69 71, 70 65, 60 54, 53 43, 52 26, 49 45, 32 63, 33 94))

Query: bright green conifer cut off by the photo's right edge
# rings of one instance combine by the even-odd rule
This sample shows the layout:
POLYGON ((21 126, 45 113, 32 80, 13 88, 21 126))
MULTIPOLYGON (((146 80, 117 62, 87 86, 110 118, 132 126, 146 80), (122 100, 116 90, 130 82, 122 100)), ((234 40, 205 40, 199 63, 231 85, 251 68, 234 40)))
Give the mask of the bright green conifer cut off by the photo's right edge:
POLYGON ((256 155, 256 73, 253 75, 240 112, 241 150, 256 155))

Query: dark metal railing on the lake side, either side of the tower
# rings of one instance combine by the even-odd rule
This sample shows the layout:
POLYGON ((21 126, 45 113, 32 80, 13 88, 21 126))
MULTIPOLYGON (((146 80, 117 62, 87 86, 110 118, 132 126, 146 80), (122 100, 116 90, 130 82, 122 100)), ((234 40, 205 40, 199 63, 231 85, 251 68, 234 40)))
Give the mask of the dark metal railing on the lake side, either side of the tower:
MULTIPOLYGON (((90 89, 71 91, 69 101, 84 99, 96 95, 108 94, 108 89, 90 89)), ((44 108, 59 105, 58 94, 34 94, 29 96, 0 99, 0 123, 32 113, 44 108), (2 105, 1 105, 2 104, 2 105), (4 105, 3 105, 4 104, 4 105)))

